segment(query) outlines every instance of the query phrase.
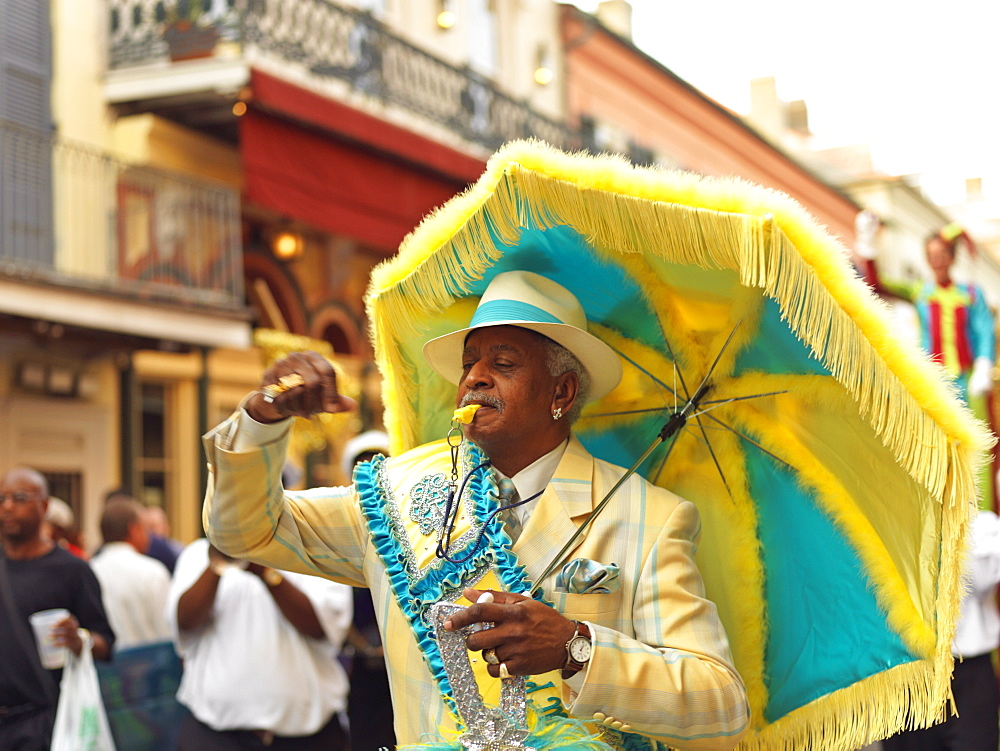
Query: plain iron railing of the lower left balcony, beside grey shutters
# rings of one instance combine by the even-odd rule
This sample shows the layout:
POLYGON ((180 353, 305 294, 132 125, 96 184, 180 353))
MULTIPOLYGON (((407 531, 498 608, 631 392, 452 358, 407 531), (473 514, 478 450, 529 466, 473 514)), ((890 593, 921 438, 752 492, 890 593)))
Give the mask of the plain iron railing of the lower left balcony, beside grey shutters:
POLYGON ((240 311, 239 194, 0 121, 0 274, 240 311))

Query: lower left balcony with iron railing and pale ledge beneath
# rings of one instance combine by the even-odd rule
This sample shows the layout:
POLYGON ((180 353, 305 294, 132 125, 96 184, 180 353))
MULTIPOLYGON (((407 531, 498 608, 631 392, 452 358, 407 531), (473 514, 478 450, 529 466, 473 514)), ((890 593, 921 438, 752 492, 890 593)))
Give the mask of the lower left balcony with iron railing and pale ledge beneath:
POLYGON ((0 122, 0 312, 236 345, 240 242, 236 191, 0 122))

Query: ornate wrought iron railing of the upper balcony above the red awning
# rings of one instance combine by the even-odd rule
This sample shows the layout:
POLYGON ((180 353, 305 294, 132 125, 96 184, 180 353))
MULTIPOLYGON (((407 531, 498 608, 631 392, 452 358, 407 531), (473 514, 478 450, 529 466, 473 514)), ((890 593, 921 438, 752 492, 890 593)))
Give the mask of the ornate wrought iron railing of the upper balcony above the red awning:
POLYGON ((534 136, 567 147, 565 124, 389 33, 370 14, 328 0, 110 0, 110 66, 212 55, 228 47, 262 53, 337 78, 494 150, 534 136))

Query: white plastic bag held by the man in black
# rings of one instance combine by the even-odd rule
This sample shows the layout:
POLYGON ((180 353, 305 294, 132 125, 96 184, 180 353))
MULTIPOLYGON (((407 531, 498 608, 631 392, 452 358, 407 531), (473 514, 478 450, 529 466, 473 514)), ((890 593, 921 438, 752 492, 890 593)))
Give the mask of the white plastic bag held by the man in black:
POLYGON ((52 751, 115 751, 111 727, 101 699, 97 668, 91 653, 93 639, 81 629, 83 649, 66 655, 59 704, 52 728, 52 751))

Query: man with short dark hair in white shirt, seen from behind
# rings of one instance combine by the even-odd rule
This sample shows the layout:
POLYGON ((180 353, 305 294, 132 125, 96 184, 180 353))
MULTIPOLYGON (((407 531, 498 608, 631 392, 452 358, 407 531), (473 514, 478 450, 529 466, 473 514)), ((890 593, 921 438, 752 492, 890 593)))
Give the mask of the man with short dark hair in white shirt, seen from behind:
POLYGON ((104 546, 90 565, 101 584, 101 599, 115 649, 168 641, 163 610, 170 589, 170 572, 155 558, 143 555, 149 536, 137 501, 112 501, 101 516, 104 546))

